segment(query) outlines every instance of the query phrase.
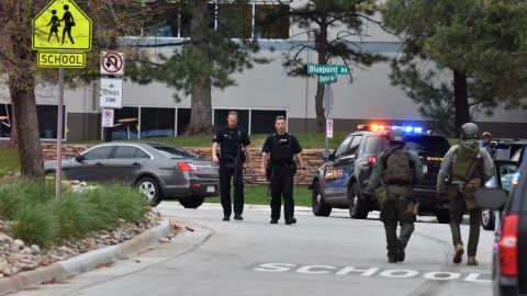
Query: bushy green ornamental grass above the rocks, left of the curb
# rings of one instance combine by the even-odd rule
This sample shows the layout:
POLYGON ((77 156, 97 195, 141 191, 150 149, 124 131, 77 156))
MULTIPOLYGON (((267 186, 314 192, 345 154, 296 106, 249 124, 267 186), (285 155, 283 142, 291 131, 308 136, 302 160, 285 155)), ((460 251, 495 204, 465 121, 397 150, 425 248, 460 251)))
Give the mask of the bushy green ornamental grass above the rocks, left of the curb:
POLYGON ((48 247, 60 240, 111 230, 120 219, 139 223, 150 210, 146 200, 124 185, 97 186, 55 194, 53 181, 19 180, 0 186, 0 217, 10 234, 26 243, 48 247))

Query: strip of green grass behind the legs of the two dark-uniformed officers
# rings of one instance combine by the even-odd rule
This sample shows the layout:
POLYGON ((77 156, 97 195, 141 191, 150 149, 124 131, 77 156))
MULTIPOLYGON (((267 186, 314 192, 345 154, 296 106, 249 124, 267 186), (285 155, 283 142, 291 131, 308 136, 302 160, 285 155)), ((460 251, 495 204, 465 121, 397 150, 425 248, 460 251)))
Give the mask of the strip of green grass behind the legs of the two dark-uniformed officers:
MULTIPOLYGON (((269 205, 271 197, 267 197, 266 185, 247 185, 244 189, 245 204, 248 205, 269 205)), ((233 193, 231 192, 231 198, 233 193)), ((311 206, 311 191, 307 185, 294 186, 293 198, 295 206, 311 206)), ((206 203, 220 203, 220 196, 205 198, 206 203)), ((283 200, 282 200, 283 204, 283 200)))

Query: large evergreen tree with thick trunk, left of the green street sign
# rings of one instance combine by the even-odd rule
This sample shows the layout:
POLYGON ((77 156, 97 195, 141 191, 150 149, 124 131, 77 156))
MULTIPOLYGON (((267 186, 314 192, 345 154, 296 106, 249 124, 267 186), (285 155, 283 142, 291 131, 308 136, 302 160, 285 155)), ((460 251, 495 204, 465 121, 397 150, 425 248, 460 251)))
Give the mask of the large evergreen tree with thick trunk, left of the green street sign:
MULTIPOLYGON (((177 101, 181 99, 180 92, 190 95, 191 114, 186 134, 211 133, 212 88, 235 86, 232 73, 253 68, 255 62, 267 62, 255 56, 259 47, 251 38, 249 1, 188 0, 175 3, 172 11, 172 18, 190 18, 190 38, 171 44, 177 45, 177 49, 170 55, 152 58, 143 54, 141 61, 131 65, 127 71, 139 83, 157 80, 175 88, 177 101)), ((177 19, 172 22, 177 23, 177 19)))

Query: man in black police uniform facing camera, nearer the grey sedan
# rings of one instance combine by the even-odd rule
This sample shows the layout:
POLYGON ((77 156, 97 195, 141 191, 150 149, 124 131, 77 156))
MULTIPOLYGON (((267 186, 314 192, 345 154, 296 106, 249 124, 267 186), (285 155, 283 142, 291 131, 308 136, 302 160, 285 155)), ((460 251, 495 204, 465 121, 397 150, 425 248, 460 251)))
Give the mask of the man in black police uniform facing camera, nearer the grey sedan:
POLYGON ((231 219, 231 182, 234 179, 234 219, 243 220, 244 212, 244 163, 250 169, 250 140, 239 126, 238 113, 228 112, 227 125, 220 127, 212 144, 212 160, 220 163, 220 194, 223 206, 223 220, 231 219), (220 147, 220 155, 217 153, 220 147))

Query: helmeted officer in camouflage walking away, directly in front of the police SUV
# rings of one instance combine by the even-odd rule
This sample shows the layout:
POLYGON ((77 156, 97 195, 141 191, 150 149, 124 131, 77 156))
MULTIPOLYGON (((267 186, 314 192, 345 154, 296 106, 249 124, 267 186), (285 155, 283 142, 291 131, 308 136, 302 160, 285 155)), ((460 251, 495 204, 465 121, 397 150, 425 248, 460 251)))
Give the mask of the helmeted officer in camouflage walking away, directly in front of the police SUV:
POLYGON ((362 193, 375 193, 386 232, 390 263, 404 261, 404 249, 414 231, 414 186, 423 179, 423 164, 418 156, 405 147, 404 137, 405 132, 400 127, 390 132, 390 148, 377 157, 368 186, 362 193), (397 223, 401 225, 399 238, 397 223))

